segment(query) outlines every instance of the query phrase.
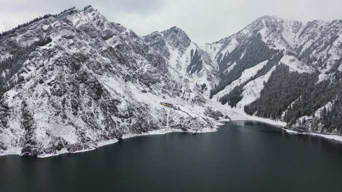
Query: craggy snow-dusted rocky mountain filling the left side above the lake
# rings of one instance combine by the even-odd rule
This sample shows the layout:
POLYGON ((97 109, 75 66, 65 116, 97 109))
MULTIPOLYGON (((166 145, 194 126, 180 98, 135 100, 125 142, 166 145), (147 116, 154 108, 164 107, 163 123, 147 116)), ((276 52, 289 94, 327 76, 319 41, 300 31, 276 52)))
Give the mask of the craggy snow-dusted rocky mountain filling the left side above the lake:
MULTIPOLYGON (((43 18, 0 40, 1 58, 17 57, 1 66, 0 155, 72 153, 164 128, 215 129, 189 109, 187 101, 208 93, 183 82, 197 80, 185 71, 190 61, 181 60, 196 45, 179 28, 139 37, 87 7, 43 18), (176 73, 170 70, 174 62, 176 73), (187 94, 181 98, 179 90, 187 94), (187 112, 163 107, 164 101, 187 112)), ((198 76, 213 85, 216 77, 205 70, 198 76)))

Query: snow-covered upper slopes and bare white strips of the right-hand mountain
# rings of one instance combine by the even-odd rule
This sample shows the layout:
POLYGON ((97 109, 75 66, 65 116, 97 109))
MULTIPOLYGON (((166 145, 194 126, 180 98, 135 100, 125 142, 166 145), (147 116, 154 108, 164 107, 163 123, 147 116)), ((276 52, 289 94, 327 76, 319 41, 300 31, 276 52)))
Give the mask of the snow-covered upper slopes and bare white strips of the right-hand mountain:
MULTIPOLYGON (((258 51, 257 48, 253 50, 252 47, 248 47, 250 42, 257 40, 258 35, 269 49, 283 50, 283 57, 275 65, 287 65, 289 71, 299 74, 317 74, 318 82, 326 79, 335 81, 333 79, 338 75, 342 65, 342 20, 300 22, 265 15, 235 34, 203 46, 203 49, 211 55, 213 62, 218 64, 221 82, 224 82, 227 76, 232 75, 229 72, 243 69, 239 77, 228 81, 231 83, 224 85, 223 89, 213 95, 213 101, 231 92, 236 85, 242 84, 260 69, 257 63, 252 67, 243 68, 246 51, 249 53, 258 51), (253 72, 246 76, 246 71, 253 72)), ((247 55, 249 56, 247 62, 253 62, 259 54, 247 55)), ((232 110, 243 113, 244 105, 258 99, 264 87, 263 83, 267 82, 274 68, 275 66, 265 75, 246 82, 241 93, 242 99, 232 110)), ((230 108, 228 104, 225 106, 230 108)), ((309 127, 307 129, 310 130, 309 127)))

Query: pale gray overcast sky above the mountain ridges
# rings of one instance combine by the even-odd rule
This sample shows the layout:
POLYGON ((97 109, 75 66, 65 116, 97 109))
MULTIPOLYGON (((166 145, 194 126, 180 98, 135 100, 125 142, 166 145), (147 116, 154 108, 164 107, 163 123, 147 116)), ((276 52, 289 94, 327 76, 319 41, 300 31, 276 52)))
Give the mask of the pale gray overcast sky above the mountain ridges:
POLYGON ((87 4, 138 35, 175 25, 199 44, 227 37, 263 15, 301 21, 342 19, 342 0, 0 0, 0 31, 87 4))

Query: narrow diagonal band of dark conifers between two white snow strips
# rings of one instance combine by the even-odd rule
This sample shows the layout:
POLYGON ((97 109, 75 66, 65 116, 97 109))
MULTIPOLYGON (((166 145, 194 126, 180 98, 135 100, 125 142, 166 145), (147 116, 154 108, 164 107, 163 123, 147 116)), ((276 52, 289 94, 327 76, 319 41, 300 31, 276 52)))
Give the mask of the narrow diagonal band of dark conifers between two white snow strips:
POLYGON ((231 90, 228 94, 223 95, 218 99, 219 102, 222 103, 222 105, 228 103, 231 107, 236 107, 236 104, 241 101, 242 99, 242 92, 243 87, 250 81, 253 81, 262 75, 265 75, 270 69, 279 63, 280 59, 284 56, 283 50, 278 51, 275 55, 273 55, 270 59, 268 59, 267 63, 259 69, 256 74, 249 78, 244 83, 235 86, 233 90, 231 90))

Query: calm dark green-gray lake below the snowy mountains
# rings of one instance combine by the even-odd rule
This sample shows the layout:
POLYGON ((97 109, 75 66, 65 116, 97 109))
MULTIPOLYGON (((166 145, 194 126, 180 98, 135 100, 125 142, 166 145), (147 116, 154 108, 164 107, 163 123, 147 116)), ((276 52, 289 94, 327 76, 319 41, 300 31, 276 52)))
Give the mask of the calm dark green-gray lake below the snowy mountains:
POLYGON ((0 192, 337 192, 341 181, 341 143, 252 121, 45 159, 0 157, 0 192))

